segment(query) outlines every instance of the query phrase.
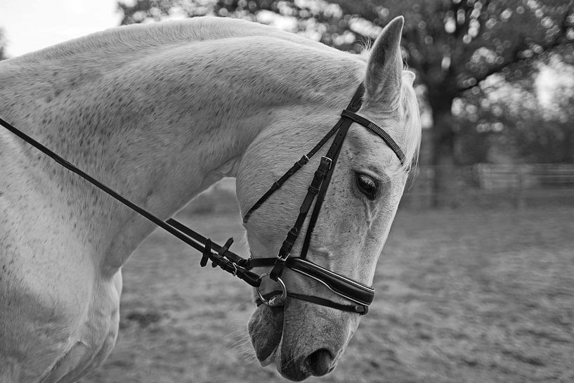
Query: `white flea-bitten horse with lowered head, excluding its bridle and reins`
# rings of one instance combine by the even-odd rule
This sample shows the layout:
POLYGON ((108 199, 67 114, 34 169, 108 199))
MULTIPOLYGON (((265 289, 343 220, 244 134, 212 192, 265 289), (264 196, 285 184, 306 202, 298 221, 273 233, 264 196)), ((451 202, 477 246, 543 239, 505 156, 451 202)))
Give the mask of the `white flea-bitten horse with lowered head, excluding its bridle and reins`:
MULTIPOLYGON (((0 115, 161 219, 223 177, 245 214, 363 84, 357 113, 405 161, 353 122, 308 259, 370 285, 421 135, 402 28, 392 20, 356 55, 227 18, 117 27, 1 61, 0 115)), ((0 161, 0 382, 74 382, 112 351, 122 265, 156 226, 1 128, 0 161)), ((254 259, 277 254, 319 162, 244 223, 254 259)), ((282 281, 344 303, 288 269, 282 281)), ((300 381, 337 365, 359 318, 287 298, 247 327, 261 364, 300 381)))

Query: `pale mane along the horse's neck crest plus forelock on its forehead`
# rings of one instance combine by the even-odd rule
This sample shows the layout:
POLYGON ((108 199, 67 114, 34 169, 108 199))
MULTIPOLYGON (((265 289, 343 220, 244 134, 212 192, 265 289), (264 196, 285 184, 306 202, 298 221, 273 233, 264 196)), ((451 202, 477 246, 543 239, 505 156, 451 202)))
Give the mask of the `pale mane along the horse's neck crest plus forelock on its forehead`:
MULTIPOLYGON (((353 58, 363 62, 366 62, 370 57, 369 47, 365 47, 365 51, 360 55, 351 55, 318 41, 306 39, 268 25, 232 18, 203 16, 110 28, 85 37, 65 41, 40 51, 27 53, 9 61, 41 62, 43 60, 57 60, 78 53, 90 55, 94 51, 109 52, 110 55, 117 56, 124 52, 125 48, 129 48, 130 51, 145 51, 155 46, 188 44, 192 41, 209 41, 232 37, 270 37, 324 51, 330 55, 340 55, 341 58, 353 58)), ((417 96, 410 81, 404 77, 401 89, 400 103, 398 103, 396 113, 403 116, 405 121, 405 164, 403 169, 406 170, 417 160, 421 140, 421 124, 417 96)))

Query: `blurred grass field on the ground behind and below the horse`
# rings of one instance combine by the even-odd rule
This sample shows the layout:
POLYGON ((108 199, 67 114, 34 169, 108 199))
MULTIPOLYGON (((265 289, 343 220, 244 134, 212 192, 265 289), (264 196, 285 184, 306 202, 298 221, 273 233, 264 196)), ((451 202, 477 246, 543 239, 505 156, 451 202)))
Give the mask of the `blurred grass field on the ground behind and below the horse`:
MULTIPOLYGON (((202 203, 178 218, 242 238, 202 203)), ((84 383, 285 382, 251 356, 248 286, 199 258, 162 231, 133 254, 117 345, 84 383)), ((308 382, 574 382, 574 207, 399 209, 375 287, 337 369, 308 382)))

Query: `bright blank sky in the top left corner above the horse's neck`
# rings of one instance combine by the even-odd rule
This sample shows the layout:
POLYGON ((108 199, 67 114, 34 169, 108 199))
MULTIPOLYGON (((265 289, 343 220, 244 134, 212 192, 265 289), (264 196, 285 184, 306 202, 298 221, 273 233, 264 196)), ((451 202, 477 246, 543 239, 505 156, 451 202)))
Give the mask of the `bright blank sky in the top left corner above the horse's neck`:
POLYGON ((0 0, 8 57, 119 25, 117 0, 0 0))

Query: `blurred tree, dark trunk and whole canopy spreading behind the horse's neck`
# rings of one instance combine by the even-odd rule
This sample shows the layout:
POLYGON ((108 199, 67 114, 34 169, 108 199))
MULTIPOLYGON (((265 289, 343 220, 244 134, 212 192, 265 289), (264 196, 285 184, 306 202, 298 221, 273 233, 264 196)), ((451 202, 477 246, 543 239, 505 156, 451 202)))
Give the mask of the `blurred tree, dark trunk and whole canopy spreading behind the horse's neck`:
POLYGON ((449 204, 456 124, 452 103, 493 74, 522 79, 551 52, 574 60, 574 0, 138 0, 120 4, 122 23, 159 19, 174 11, 260 20, 265 12, 295 18, 294 32, 360 51, 396 15, 405 16, 403 53, 431 108, 435 205, 449 204), (568 51, 568 49, 570 49, 568 51))

